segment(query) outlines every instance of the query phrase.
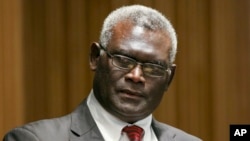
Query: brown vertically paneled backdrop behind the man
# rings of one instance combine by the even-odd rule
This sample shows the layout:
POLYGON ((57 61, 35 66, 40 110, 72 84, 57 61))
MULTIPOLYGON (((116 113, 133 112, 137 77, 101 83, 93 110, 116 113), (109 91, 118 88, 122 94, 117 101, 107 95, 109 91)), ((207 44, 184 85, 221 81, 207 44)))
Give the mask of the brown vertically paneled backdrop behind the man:
POLYGON ((0 138, 70 113, 90 92, 89 47, 122 5, 166 15, 177 72, 154 116, 204 141, 250 124, 250 0, 0 0, 0 138))

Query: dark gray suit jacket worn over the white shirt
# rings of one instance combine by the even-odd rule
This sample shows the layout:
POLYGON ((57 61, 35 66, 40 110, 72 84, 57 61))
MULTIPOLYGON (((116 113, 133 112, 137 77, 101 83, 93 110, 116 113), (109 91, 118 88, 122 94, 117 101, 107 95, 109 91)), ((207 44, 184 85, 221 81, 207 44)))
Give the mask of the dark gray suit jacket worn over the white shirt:
MULTIPOLYGON (((190 134, 156 120, 153 120, 152 127, 159 141, 200 141, 190 134)), ((15 128, 5 135, 3 141, 104 141, 104 139, 85 100, 71 114, 15 128)))

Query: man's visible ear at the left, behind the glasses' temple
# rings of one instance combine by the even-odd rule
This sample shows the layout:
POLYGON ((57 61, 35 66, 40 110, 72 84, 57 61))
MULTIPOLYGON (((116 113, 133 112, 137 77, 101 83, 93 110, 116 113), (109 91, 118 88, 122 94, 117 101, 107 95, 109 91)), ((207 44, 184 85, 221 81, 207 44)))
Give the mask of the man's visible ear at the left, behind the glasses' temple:
POLYGON ((100 45, 97 42, 92 43, 89 56, 89 66, 92 71, 95 71, 100 58, 100 45))

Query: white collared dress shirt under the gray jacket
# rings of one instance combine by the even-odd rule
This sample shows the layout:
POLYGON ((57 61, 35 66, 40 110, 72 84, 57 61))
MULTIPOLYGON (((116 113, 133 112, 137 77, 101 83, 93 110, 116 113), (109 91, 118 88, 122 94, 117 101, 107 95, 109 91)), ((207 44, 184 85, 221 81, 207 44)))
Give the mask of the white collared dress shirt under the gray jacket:
MULTIPOLYGON (((93 90, 87 98, 87 105, 105 141, 123 140, 122 128, 129 124, 107 112, 97 101, 93 90)), ((143 141, 157 141, 151 122, 152 114, 134 123, 144 129, 143 141)))

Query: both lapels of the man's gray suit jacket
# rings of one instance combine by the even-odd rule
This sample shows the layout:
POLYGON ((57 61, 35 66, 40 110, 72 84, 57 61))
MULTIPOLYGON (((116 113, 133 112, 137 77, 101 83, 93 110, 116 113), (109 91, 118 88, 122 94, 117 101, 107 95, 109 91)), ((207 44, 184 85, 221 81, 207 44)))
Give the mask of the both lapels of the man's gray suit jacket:
MULTIPOLYGON (((152 128, 159 141, 174 141, 176 133, 172 132, 168 126, 153 119, 152 128)), ((70 141, 80 141, 83 139, 95 139, 96 141, 104 140, 91 116, 86 99, 71 114, 70 129, 72 132, 72 134, 70 134, 70 141)))

